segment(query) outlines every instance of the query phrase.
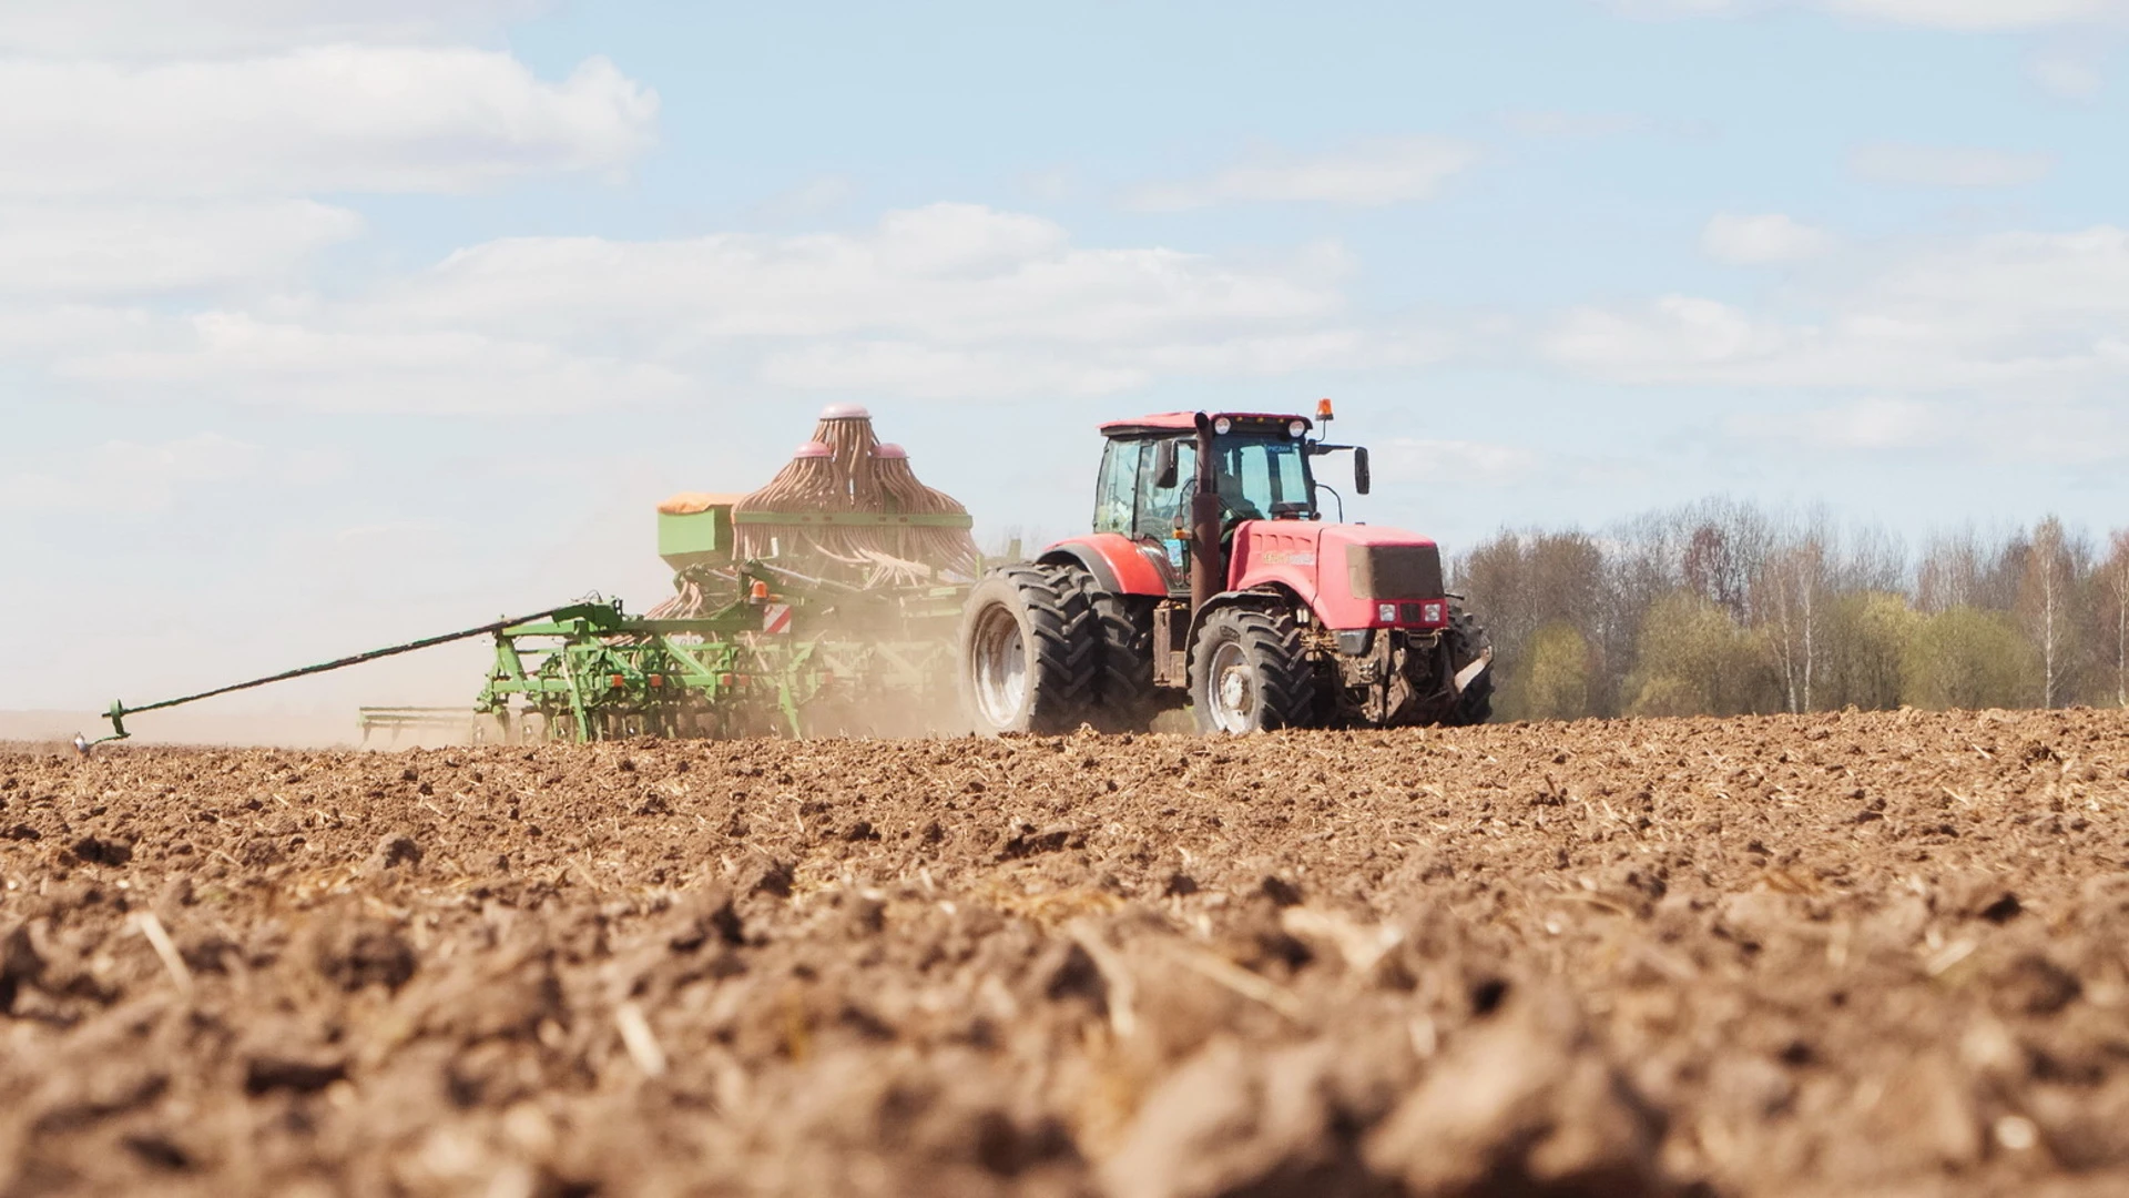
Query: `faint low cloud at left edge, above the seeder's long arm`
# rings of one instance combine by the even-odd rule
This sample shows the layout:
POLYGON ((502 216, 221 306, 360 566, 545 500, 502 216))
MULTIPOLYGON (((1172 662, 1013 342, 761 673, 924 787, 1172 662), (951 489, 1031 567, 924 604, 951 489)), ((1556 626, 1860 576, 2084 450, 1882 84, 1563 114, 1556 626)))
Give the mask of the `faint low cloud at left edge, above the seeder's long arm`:
POLYGON ((219 433, 158 446, 104 441, 55 471, 0 477, 0 507, 30 512, 155 512, 179 488, 226 484, 260 473, 264 450, 219 433))

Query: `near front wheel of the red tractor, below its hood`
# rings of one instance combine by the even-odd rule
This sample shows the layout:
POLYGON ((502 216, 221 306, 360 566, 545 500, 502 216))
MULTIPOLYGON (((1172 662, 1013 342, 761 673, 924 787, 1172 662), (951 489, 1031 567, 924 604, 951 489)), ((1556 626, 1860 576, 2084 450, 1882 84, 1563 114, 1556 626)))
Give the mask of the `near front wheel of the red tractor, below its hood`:
POLYGON ((1222 608, 1190 650, 1190 710, 1205 735, 1309 727, 1316 669, 1292 616, 1222 608))

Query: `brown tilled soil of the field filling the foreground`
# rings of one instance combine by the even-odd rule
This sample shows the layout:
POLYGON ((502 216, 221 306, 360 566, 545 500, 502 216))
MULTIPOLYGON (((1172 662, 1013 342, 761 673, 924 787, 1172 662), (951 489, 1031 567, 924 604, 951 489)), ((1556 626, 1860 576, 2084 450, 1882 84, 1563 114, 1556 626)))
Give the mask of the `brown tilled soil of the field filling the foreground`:
POLYGON ((0 750, 0 1194, 2120 1194, 2129 716, 0 750))

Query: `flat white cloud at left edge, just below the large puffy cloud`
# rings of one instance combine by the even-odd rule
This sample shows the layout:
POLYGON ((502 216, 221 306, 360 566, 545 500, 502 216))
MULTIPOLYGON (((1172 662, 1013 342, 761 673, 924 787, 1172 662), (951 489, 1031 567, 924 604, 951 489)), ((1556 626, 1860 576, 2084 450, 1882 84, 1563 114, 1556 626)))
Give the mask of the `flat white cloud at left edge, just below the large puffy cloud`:
POLYGON ((123 296, 281 277, 362 224, 311 200, 0 205, 0 296, 123 296))

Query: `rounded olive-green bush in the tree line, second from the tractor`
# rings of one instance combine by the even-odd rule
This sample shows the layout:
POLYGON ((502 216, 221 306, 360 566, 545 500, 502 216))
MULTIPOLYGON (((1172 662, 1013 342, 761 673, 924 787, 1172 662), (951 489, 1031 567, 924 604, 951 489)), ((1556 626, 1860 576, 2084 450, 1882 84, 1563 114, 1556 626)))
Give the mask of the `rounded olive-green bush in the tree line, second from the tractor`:
POLYGON ((1767 642, 1699 595, 1656 599, 1641 620, 1629 714, 1737 716, 1780 706, 1767 642))

